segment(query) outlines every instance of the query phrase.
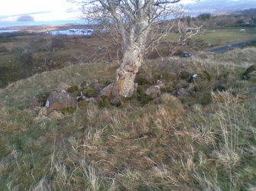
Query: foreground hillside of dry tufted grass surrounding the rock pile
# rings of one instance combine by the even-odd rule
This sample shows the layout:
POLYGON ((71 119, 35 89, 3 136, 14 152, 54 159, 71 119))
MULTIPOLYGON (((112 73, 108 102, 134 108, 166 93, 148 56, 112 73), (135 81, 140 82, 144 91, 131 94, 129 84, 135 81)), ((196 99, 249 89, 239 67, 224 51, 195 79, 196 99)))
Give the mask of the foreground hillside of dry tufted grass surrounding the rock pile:
POLYGON ((29 102, 60 83, 112 81, 115 64, 81 63, 11 83, 0 89, 0 190, 256 189, 256 81, 241 79, 255 53, 146 60, 144 71, 208 73, 207 80, 193 96, 88 103, 70 115, 45 115, 29 102))

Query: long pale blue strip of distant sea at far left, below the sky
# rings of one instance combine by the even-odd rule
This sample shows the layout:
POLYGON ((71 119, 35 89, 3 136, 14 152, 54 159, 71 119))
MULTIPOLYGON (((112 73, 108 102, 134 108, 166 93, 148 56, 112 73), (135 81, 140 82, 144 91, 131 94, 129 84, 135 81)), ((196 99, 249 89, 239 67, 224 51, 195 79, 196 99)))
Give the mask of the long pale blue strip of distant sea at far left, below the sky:
POLYGON ((83 20, 63 20, 63 21, 0 21, 0 29, 20 26, 40 26, 44 24, 62 25, 62 24, 86 24, 83 20))

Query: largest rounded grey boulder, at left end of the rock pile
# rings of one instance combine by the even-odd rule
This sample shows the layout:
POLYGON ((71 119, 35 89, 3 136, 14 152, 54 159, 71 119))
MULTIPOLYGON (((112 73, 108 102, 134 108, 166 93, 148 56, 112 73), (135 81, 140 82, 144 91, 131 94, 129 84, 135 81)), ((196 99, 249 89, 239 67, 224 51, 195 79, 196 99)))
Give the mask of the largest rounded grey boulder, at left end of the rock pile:
POLYGON ((47 98, 46 107, 47 112, 50 113, 53 110, 72 110, 76 108, 77 102, 68 92, 53 91, 47 98))

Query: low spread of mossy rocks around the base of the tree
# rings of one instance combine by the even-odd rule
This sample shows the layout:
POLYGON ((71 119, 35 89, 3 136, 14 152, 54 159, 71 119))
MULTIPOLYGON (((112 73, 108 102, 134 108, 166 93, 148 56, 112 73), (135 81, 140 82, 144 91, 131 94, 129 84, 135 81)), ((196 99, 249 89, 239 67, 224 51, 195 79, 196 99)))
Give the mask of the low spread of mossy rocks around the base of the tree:
MULTIPOLYGON (((254 71, 254 66, 245 71, 246 79, 254 71)), ((45 107, 47 115, 53 111, 63 114, 73 113, 76 108, 86 108, 89 103, 99 107, 123 105, 125 102, 165 103, 167 95, 173 96, 187 106, 207 105, 212 102, 212 92, 227 91, 222 79, 212 79, 206 70, 191 73, 186 70, 180 73, 138 73, 134 82, 134 95, 131 98, 113 96, 115 83, 109 80, 89 79, 81 84, 61 83, 52 92, 38 94, 31 100, 31 105, 45 107)), ((174 99, 171 99, 174 100, 174 99)))

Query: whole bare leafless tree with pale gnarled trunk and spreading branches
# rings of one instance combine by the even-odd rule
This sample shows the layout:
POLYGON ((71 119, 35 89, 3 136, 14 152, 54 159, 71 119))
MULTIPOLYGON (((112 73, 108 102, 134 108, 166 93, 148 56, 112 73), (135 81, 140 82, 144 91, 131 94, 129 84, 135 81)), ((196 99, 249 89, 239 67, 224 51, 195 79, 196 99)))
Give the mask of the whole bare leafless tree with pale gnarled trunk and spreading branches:
MULTIPOLYGON (((77 2, 76 0, 74 0, 77 2)), ((180 0, 83 0, 86 20, 104 26, 102 32, 115 36, 122 50, 122 63, 117 70, 113 98, 131 97, 134 78, 143 64, 144 55, 154 49, 173 28, 180 24, 180 0)), ((179 30, 180 42, 186 40, 179 30)), ((191 35, 195 33, 190 30, 191 35)), ((190 36, 191 36, 190 35, 190 36)))

